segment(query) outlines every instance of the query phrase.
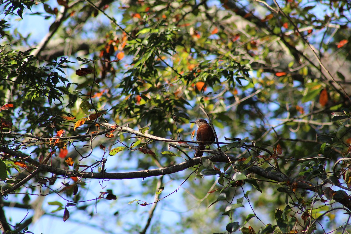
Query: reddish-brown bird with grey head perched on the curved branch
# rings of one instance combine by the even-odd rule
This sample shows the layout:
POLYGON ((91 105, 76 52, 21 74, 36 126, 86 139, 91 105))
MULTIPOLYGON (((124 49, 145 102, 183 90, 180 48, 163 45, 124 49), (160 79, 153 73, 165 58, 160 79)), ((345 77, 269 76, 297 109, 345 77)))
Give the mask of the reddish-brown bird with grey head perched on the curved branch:
POLYGON ((204 149, 207 145, 211 145, 214 142, 214 134, 210 125, 204 119, 198 119, 196 121, 191 121, 198 126, 198 131, 196 133, 196 141, 199 143, 199 149, 195 153, 195 157, 201 157, 204 154, 204 149))

